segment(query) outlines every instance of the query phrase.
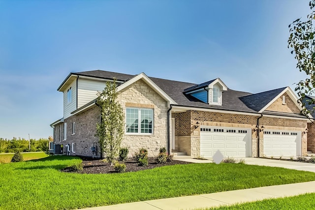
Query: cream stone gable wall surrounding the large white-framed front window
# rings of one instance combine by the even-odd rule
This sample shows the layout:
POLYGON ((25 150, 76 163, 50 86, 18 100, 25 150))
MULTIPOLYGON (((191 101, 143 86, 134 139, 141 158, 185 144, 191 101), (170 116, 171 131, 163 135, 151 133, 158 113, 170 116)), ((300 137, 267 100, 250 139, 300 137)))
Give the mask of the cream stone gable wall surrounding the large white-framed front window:
POLYGON ((149 156, 158 155, 158 150, 167 145, 167 102, 144 81, 138 80, 127 88, 118 92, 118 101, 124 112, 126 107, 154 109, 154 134, 125 134, 122 146, 129 148, 131 156, 140 148, 148 150, 149 156))

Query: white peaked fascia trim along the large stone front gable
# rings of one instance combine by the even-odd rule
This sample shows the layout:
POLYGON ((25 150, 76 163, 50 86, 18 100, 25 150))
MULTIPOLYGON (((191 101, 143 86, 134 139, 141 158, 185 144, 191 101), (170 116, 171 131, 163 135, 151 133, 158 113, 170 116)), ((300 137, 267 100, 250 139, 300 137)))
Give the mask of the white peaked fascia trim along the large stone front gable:
POLYGON ((128 87, 132 83, 143 79, 144 82, 150 86, 153 90, 158 92, 158 94, 166 101, 170 102, 171 104, 177 104, 169 95, 167 95, 162 89, 160 89, 145 73, 138 74, 137 76, 131 78, 130 80, 126 81, 122 85, 117 87, 117 92, 123 90, 124 88, 128 87))

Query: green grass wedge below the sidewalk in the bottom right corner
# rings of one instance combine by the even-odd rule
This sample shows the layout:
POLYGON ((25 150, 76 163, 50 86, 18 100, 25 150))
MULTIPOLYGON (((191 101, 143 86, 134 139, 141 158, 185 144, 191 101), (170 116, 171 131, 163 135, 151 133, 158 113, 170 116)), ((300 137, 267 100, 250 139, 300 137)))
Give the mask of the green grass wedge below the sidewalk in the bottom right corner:
POLYGON ((314 210, 315 193, 198 210, 314 210))

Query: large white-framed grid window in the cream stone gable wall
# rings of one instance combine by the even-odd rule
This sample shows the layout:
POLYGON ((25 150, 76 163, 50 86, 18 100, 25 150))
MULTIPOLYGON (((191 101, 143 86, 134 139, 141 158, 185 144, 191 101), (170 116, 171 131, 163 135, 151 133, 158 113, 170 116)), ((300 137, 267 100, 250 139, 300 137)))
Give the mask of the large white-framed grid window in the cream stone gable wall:
POLYGON ((153 109, 126 108, 126 133, 153 134, 153 109))

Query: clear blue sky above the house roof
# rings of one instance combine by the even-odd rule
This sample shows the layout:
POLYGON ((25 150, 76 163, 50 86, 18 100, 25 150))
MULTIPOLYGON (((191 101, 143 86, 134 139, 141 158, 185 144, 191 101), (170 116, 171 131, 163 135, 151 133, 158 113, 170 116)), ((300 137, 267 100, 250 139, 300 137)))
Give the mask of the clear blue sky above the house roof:
POLYGON ((309 0, 0 0, 0 137, 48 138, 70 72, 260 92, 304 79, 288 25, 309 0))

